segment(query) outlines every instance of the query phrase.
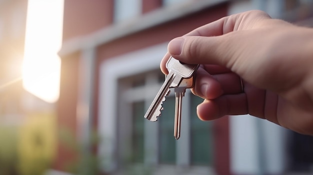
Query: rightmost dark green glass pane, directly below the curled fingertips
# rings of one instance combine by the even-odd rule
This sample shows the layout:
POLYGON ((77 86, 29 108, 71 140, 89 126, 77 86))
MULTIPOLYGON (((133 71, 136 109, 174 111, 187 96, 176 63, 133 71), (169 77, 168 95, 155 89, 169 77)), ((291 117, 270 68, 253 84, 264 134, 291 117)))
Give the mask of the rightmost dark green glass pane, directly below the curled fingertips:
POLYGON ((194 95, 191 95, 190 99, 191 164, 211 165, 213 152, 211 123, 201 121, 196 115, 196 106, 201 103, 203 99, 194 95))

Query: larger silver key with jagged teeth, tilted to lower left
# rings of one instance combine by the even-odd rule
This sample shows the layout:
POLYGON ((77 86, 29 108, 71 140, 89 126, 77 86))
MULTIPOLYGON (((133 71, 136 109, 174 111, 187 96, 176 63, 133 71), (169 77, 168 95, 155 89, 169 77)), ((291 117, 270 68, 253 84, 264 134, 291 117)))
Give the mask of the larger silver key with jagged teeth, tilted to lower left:
POLYGON ((169 87, 178 87, 181 80, 190 78, 198 67, 199 65, 181 64, 178 60, 170 57, 166 63, 168 75, 145 113, 144 118, 152 122, 157 121, 157 117, 161 114, 160 111, 163 109, 162 103, 165 101, 165 97, 170 93, 169 87))

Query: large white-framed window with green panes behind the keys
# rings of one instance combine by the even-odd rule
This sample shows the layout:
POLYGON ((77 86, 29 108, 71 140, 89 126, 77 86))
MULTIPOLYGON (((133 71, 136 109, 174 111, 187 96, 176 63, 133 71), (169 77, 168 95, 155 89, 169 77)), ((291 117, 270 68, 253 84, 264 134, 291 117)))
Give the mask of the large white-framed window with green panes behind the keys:
POLYGON ((157 122, 143 118, 164 81, 159 62, 166 46, 164 43, 112 58, 101 67, 99 132, 105 138, 100 146, 105 171, 120 170, 123 165, 131 164, 154 165, 157 166, 154 171, 161 174, 185 171, 186 167, 190 168, 190 174, 199 170, 211 173, 211 126, 195 114, 201 99, 186 91, 178 141, 173 137, 173 92, 163 103, 164 110, 157 122))

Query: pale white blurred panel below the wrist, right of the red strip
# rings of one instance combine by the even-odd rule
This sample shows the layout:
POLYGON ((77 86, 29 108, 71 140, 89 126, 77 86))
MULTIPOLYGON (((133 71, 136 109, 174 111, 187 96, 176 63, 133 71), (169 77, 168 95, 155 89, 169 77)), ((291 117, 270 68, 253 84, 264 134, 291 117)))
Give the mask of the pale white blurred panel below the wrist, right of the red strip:
POLYGON ((250 115, 230 117, 230 170, 233 174, 283 174, 286 129, 250 115))

